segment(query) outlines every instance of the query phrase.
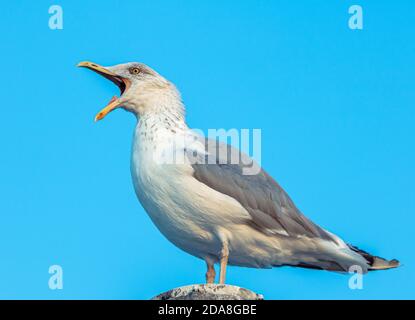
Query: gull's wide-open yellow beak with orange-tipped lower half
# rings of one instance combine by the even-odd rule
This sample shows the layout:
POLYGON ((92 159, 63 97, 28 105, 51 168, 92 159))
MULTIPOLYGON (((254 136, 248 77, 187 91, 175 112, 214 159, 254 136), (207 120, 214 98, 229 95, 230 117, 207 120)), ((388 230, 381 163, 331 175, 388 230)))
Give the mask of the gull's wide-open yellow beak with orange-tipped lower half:
MULTIPOLYGON (((111 72, 110 70, 108 70, 107 68, 104 68, 103 66, 100 66, 99 64, 89 62, 89 61, 83 61, 83 62, 78 63, 78 67, 83 67, 83 68, 87 68, 92 71, 95 71, 96 73, 100 74, 106 79, 112 81, 120 89, 121 95, 130 86, 130 81, 128 79, 123 78, 115 74, 114 72, 111 72)), ((116 109, 120 105, 121 105, 120 100, 116 96, 112 97, 111 101, 107 104, 107 106, 97 113, 97 115, 95 116, 95 121, 104 119, 108 113, 110 113, 112 110, 116 109)))

